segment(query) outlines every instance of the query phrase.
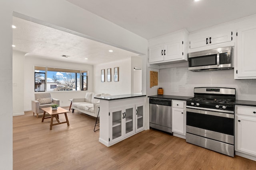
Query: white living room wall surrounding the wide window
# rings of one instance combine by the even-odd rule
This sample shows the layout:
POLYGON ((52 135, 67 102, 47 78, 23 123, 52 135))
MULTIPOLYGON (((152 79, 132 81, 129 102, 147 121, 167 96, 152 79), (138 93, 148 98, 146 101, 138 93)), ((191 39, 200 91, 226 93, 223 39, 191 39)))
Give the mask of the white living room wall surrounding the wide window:
MULTIPOLYGON (((31 100, 34 100, 34 66, 50 66, 56 68, 68 68, 76 70, 88 70, 88 90, 87 91, 66 91, 50 92, 52 98, 60 100, 60 106, 69 106, 69 99, 82 98, 86 92, 93 91, 93 66, 80 63, 68 63, 64 61, 55 61, 44 59, 42 56, 26 54, 24 57, 24 110, 31 110, 31 100)), ((15 68, 14 68, 15 69, 15 68)), ((15 105, 15 104, 14 104, 15 105)))

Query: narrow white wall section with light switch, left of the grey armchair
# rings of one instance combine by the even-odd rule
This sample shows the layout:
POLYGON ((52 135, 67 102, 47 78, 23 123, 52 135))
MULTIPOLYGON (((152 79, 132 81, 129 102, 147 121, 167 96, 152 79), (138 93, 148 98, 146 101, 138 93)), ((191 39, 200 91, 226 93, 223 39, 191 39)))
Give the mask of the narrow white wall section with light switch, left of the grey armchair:
POLYGON ((12 51, 12 91, 14 116, 24 115, 24 55, 12 51))

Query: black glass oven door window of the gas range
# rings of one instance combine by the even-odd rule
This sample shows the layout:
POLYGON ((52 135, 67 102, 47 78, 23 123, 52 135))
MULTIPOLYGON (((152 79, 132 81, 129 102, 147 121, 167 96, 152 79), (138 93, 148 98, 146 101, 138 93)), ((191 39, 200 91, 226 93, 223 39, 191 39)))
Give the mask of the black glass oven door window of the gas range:
POLYGON ((234 136, 234 119, 187 111, 187 125, 234 136))

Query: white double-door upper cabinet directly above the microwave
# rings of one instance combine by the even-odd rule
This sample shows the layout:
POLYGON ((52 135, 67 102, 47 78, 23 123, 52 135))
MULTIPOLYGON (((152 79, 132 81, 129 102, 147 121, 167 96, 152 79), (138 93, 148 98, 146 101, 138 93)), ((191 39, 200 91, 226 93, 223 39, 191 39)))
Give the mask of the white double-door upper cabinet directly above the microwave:
POLYGON ((232 24, 216 26, 203 31, 196 31, 189 35, 189 48, 206 47, 233 41, 232 24))

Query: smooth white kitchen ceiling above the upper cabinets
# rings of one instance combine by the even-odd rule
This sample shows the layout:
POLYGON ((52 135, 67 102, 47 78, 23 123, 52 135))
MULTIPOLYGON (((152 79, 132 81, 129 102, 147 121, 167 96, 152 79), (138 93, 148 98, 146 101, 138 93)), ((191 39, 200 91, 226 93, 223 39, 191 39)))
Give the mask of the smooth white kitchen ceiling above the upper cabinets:
POLYGON ((189 32, 256 14, 256 0, 67 0, 151 39, 179 29, 189 32))

